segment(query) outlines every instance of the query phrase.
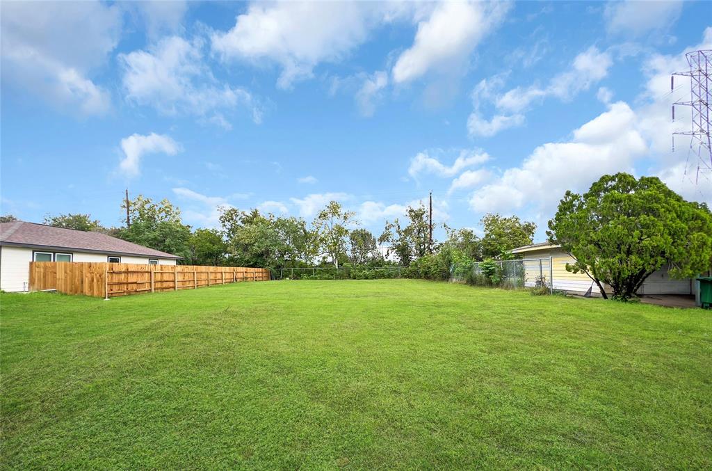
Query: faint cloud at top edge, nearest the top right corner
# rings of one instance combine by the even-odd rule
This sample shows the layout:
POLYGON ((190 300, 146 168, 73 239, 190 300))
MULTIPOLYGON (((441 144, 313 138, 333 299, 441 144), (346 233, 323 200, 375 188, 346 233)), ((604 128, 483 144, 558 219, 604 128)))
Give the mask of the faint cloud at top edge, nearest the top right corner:
POLYGON ((609 1, 604 19, 609 32, 641 36, 669 28, 679 19, 682 4, 681 0, 609 1))

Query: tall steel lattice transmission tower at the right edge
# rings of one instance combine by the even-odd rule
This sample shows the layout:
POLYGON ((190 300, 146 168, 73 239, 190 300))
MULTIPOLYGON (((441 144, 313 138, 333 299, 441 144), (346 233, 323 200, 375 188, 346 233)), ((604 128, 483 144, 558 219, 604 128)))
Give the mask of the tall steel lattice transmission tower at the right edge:
MULTIPOLYGON (((712 110, 710 107, 710 95, 712 94, 712 49, 704 51, 692 51, 685 54, 690 70, 673 73, 670 78, 670 88, 674 90, 675 76, 690 78, 691 99, 689 101, 678 101, 672 105, 672 119, 675 120, 675 106, 689 106, 692 110, 692 129, 681 131, 674 135, 690 136, 690 151, 687 155, 685 165, 685 177, 693 180, 695 185, 704 185, 703 190, 712 190, 712 140, 710 139, 710 120, 712 110), (692 170, 690 155, 697 157, 697 168, 694 179, 688 175, 688 169, 692 170)), ((673 150, 675 147, 673 135, 673 150)))

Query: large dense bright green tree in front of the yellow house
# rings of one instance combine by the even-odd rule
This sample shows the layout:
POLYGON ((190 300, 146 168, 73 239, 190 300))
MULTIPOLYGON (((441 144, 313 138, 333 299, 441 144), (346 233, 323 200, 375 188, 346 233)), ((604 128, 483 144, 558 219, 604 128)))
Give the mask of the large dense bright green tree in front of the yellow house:
POLYGON ((629 299, 661 266, 688 278, 712 266, 712 214, 687 202, 657 177, 604 175, 588 192, 566 192, 549 222, 550 240, 583 272, 617 299, 629 299))

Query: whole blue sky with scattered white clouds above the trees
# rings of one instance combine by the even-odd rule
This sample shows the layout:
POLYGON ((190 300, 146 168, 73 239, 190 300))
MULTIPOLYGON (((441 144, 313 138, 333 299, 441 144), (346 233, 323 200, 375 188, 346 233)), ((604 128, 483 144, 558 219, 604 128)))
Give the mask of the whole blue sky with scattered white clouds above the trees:
MULTIPOLYGON (((669 2, 11 2, 1 13, 1 212, 122 224, 125 188, 194 227, 218 207, 379 232, 434 192, 436 222, 537 222, 604 173, 690 200, 689 97, 712 6, 669 2)), ((442 232, 437 234, 440 238, 442 232)))

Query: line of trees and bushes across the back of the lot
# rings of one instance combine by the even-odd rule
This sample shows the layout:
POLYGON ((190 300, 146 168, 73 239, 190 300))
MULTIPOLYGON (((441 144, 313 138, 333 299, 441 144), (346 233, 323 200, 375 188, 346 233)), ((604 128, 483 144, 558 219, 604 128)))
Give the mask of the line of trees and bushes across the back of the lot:
MULTIPOLYGON (((122 205, 126 211, 126 203, 122 205)), ((3 219, 12 219, 5 216, 3 219)), ((45 224, 96 231, 183 257, 184 264, 259 266, 271 269, 305 266, 409 267, 409 274, 444 278, 453 262, 508 258, 508 251, 530 244, 536 225, 518 217, 487 214, 478 237, 473 229, 443 225, 447 237, 429 240, 426 208, 408 207, 403 218, 386 222, 375 235, 360 227, 354 212, 329 202, 317 217, 277 217, 257 209, 220 209, 218 229, 193 229, 168 200, 139 195, 128 202, 124 227, 103 227, 90 214, 47 216, 45 224)))

